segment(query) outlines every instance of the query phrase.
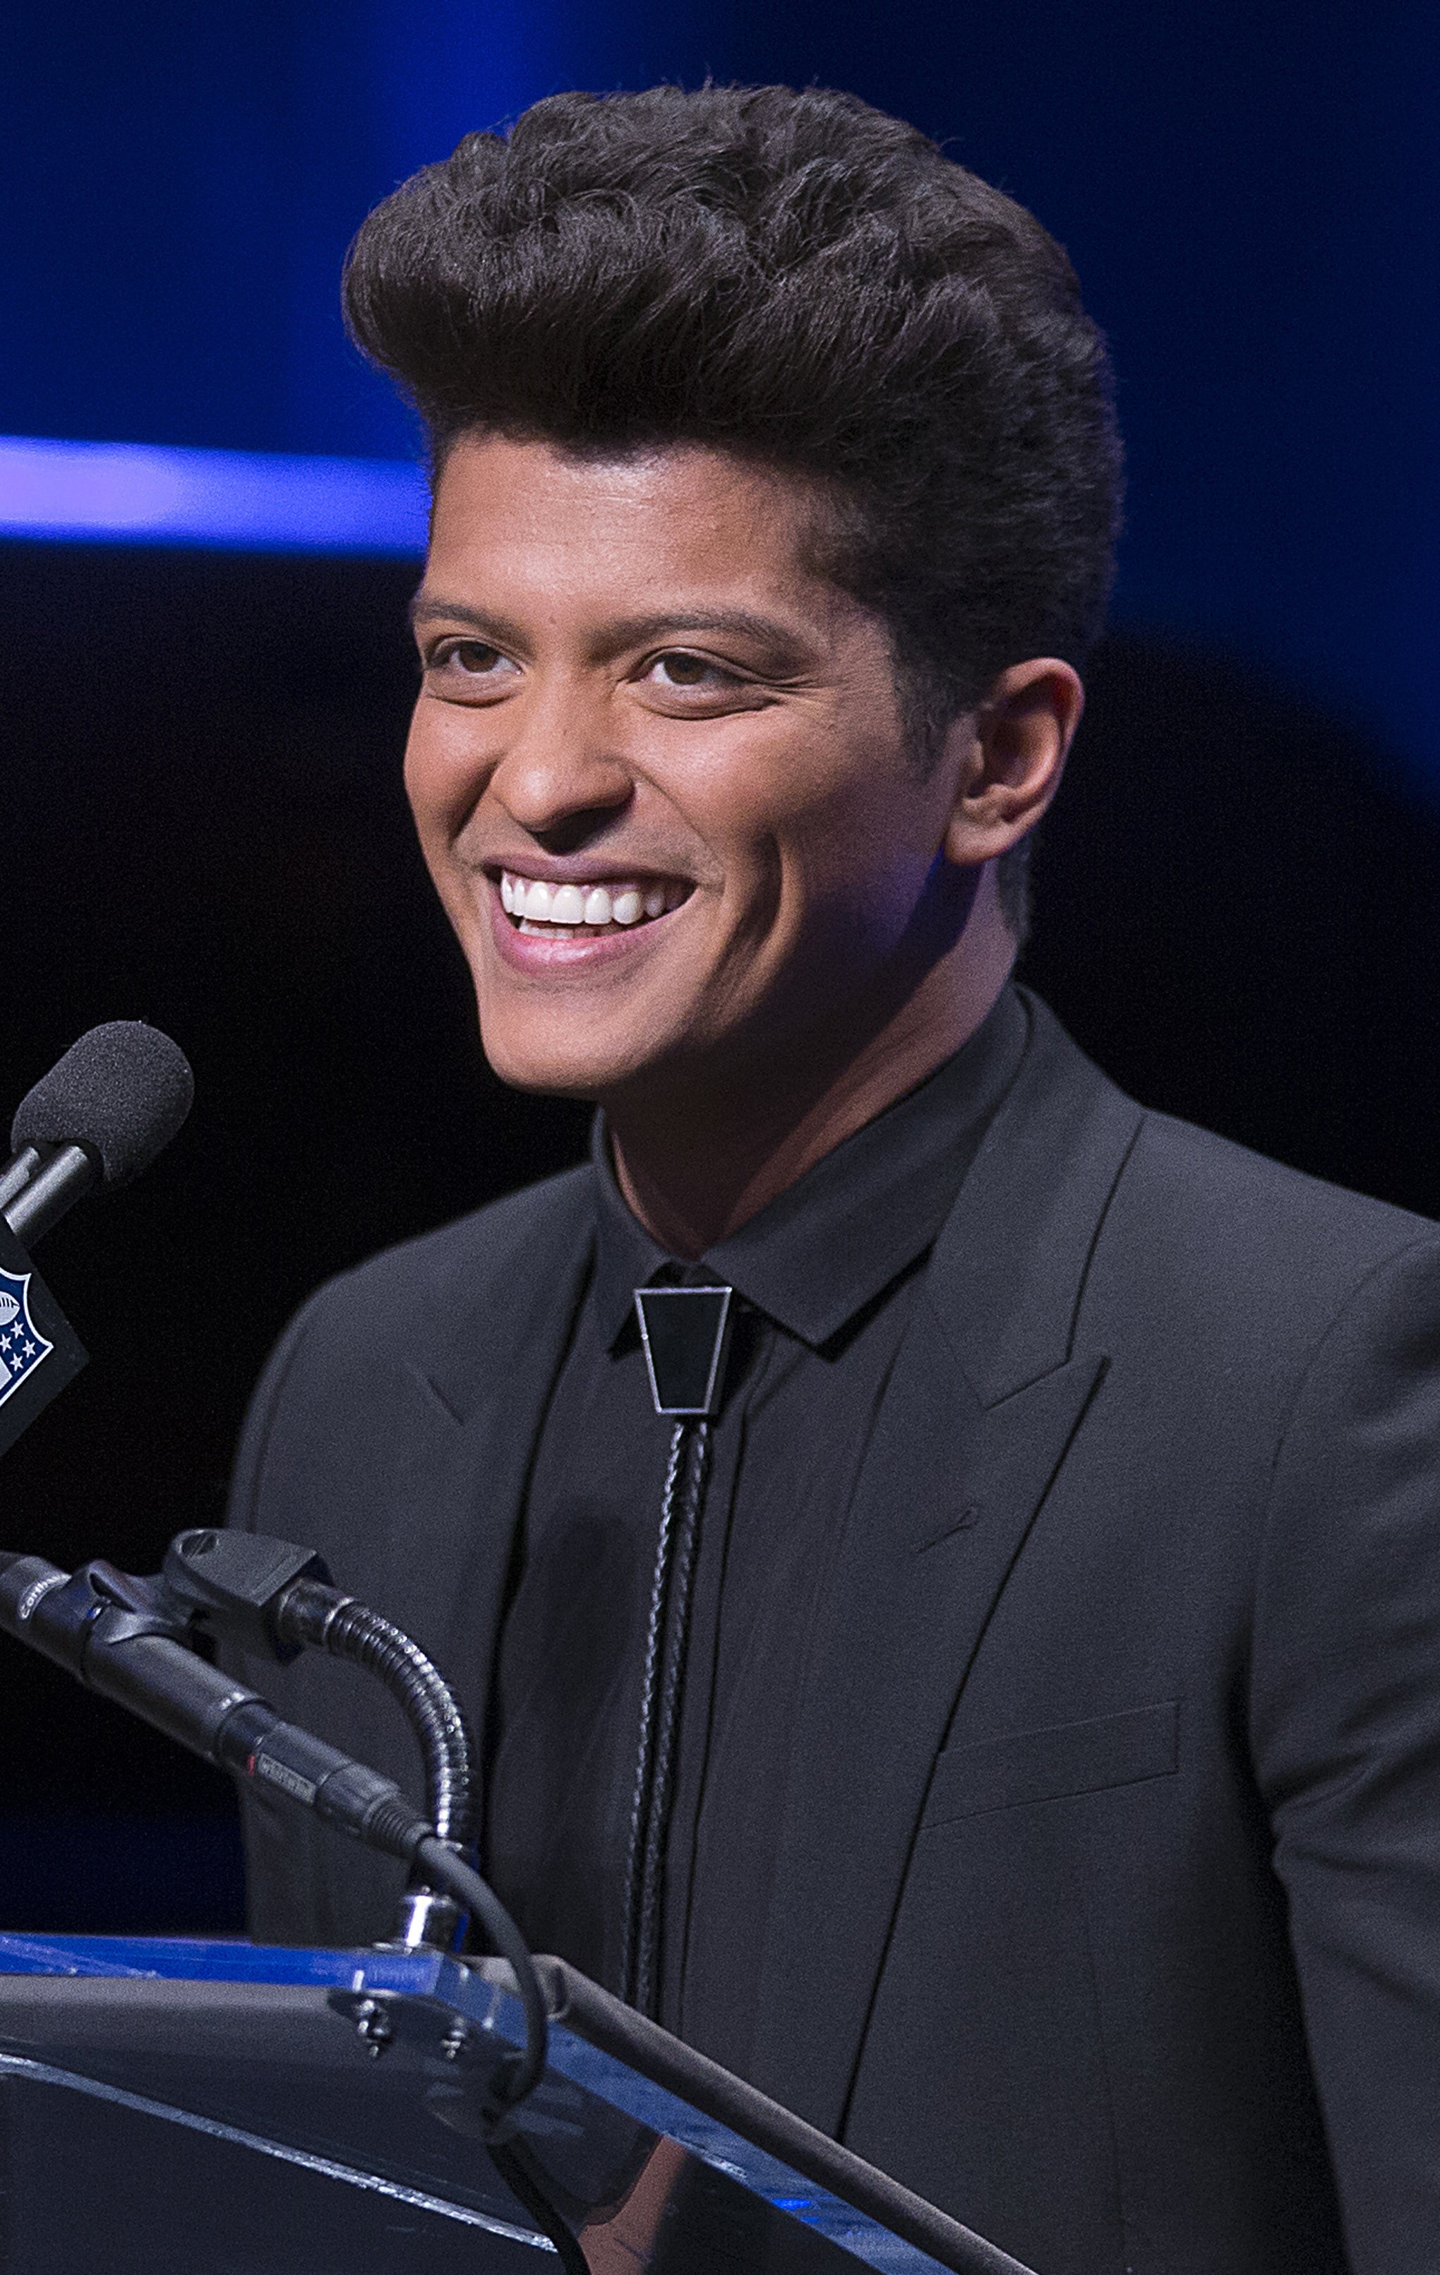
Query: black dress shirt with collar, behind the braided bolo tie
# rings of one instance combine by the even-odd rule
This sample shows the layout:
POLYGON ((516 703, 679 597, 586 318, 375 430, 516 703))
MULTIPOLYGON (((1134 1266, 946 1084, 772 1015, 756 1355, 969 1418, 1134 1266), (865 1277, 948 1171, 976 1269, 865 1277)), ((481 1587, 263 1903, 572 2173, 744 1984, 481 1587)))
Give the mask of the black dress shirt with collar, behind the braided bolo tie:
MULTIPOLYGON (((730 1240, 737 1320, 694 1574, 660 2018, 746 2073, 805 1645, 924 1263, 1026 1044, 980 1031, 730 1240)), ((485 1861, 535 1950, 619 1988, 639 1672, 671 1424, 635 1288, 676 1269, 594 1135, 596 1249, 539 1436, 496 1656, 485 1861)))

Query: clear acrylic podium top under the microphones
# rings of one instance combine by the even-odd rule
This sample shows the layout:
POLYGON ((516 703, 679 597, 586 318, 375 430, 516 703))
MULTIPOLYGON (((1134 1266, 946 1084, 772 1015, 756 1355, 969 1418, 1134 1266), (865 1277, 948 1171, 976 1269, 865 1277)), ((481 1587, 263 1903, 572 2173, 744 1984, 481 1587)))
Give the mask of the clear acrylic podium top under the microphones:
MULTIPOLYGON (((591 2275, 1026 2275, 560 1961, 516 2148, 591 2275)), ((498 1961, 0 1936, 14 2275, 544 2275, 485 2145, 498 1961)))

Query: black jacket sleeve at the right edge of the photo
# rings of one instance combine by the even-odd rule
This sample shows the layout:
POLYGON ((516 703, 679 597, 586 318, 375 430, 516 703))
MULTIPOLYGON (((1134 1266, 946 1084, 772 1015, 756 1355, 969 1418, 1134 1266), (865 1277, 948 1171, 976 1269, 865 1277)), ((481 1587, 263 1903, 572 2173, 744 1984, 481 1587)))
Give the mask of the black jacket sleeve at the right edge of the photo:
POLYGON ((1356 2275, 1440 2266, 1440 1240, 1349 1299, 1272 1481, 1251 1745, 1356 2275))

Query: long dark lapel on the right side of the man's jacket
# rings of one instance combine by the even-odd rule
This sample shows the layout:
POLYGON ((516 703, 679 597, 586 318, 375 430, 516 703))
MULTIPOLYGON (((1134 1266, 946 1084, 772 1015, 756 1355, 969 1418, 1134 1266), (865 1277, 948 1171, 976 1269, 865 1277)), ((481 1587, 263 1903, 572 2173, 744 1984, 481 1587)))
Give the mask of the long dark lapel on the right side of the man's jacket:
POLYGON ((1140 1110, 1040 1006, 935 1247, 817 1613, 753 2082, 839 2132, 935 1754, 1106 1354, 1085 1263, 1140 1110))

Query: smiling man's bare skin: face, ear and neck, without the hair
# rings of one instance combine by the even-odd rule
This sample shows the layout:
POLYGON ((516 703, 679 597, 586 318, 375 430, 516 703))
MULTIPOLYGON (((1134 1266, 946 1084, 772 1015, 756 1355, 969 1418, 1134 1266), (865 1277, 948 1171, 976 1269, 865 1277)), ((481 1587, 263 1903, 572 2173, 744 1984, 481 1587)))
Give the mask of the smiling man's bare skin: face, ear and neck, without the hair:
POLYGON ((462 437, 414 603, 405 778, 489 1062, 603 1101, 678 1256, 980 1026, 996 862, 1081 712, 1024 662, 917 764, 885 623, 805 560, 817 505, 694 446, 462 437))

